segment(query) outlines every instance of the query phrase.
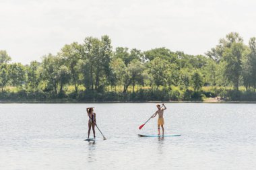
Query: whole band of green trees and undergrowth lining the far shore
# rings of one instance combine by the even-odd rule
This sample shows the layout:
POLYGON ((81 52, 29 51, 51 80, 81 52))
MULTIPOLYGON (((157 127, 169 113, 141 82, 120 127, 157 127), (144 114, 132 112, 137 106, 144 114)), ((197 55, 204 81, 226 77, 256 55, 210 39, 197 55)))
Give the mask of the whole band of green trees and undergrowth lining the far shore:
POLYGON ((108 36, 66 44, 29 65, 0 50, 0 99, 74 101, 256 100, 256 38, 236 32, 203 55, 113 49, 108 36))

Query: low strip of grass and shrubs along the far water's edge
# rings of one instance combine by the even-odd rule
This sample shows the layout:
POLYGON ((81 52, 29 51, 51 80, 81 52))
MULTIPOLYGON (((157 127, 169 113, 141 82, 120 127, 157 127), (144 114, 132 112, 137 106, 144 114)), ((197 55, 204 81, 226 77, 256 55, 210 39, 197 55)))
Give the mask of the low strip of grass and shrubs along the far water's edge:
POLYGON ((255 91, 246 91, 240 87, 235 91, 232 87, 203 87, 193 91, 191 87, 135 87, 129 88, 126 93, 115 87, 108 87, 107 91, 90 91, 79 87, 77 93, 71 86, 65 87, 63 93, 52 91, 26 91, 15 87, 7 87, 0 93, 2 102, 31 102, 31 103, 83 103, 83 102, 149 102, 149 101, 256 101, 255 91))

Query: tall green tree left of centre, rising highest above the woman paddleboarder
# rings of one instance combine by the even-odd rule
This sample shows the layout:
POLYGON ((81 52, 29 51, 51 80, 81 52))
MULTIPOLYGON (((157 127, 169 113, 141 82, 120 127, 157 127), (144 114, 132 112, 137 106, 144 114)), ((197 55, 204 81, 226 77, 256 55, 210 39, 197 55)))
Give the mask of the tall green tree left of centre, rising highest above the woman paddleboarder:
POLYGON ((101 40, 88 37, 84 40, 83 48, 80 69, 84 75, 84 85, 87 89, 98 90, 104 86, 110 74, 111 40, 108 36, 102 36, 101 40))

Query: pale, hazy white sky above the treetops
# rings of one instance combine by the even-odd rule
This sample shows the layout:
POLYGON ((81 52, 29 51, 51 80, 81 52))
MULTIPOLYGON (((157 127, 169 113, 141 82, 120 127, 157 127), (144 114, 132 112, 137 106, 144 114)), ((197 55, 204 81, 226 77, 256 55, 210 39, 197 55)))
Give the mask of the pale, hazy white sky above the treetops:
POLYGON ((113 48, 204 54, 230 32, 248 44, 255 7, 253 0, 0 0, 0 50, 28 64, 107 34, 113 48))

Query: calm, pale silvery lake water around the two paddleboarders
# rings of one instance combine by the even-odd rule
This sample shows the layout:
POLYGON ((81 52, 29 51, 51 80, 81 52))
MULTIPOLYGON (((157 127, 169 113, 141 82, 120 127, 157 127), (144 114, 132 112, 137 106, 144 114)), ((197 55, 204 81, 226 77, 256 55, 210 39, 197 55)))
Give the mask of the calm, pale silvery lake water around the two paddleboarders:
POLYGON ((166 103, 166 138, 155 103, 0 104, 0 169, 255 169, 256 105, 166 103), (95 107, 96 142, 87 138, 95 107))

